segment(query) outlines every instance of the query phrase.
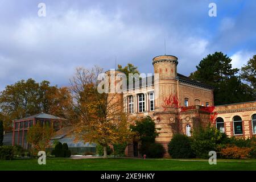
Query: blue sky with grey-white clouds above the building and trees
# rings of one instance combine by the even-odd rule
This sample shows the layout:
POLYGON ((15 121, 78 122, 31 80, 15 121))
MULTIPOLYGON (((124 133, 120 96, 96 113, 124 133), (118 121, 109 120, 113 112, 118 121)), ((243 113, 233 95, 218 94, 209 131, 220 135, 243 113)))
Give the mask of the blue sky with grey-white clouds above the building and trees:
POLYGON ((152 58, 164 53, 186 76, 216 51, 241 68, 256 54, 255 10, 253 0, 0 0, 0 90, 28 78, 68 86, 77 67, 108 70, 115 60, 152 73, 152 58))

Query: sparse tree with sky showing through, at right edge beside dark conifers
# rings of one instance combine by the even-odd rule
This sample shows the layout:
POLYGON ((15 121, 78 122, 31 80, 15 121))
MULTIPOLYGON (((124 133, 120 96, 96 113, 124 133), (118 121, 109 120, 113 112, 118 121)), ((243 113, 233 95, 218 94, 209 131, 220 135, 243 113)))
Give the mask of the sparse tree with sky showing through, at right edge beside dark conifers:
POLYGON ((240 77, 243 81, 249 83, 254 93, 256 93, 256 55, 247 62, 247 65, 243 65, 240 77))

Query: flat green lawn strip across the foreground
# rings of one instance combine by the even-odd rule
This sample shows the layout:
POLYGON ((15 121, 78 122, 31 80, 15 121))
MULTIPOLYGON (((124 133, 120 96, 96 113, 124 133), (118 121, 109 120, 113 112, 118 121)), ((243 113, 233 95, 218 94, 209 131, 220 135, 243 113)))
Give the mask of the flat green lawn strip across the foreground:
POLYGON ((256 170, 256 160, 208 161, 172 159, 47 159, 39 165, 37 159, 0 160, 0 170, 256 170))

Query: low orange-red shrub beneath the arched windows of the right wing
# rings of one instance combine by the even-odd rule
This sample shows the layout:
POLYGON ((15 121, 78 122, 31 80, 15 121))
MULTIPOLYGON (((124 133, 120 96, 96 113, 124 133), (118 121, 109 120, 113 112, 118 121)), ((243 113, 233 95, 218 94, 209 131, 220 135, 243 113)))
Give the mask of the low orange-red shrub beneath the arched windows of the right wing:
POLYGON ((250 157, 251 148, 229 146, 222 148, 221 156, 226 159, 247 159, 250 157))

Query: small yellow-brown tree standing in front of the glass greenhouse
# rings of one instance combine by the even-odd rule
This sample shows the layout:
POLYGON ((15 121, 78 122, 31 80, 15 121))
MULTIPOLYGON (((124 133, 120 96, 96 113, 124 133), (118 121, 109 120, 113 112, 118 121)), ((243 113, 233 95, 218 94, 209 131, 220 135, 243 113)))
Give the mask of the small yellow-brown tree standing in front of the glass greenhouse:
POLYGON ((40 123, 32 126, 27 133, 27 142, 32 144, 34 152, 45 151, 50 146, 50 140, 53 136, 54 130, 52 127, 40 123))

